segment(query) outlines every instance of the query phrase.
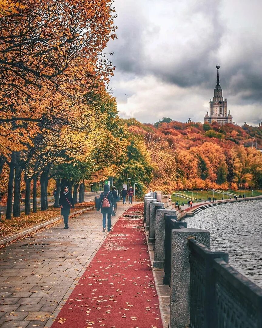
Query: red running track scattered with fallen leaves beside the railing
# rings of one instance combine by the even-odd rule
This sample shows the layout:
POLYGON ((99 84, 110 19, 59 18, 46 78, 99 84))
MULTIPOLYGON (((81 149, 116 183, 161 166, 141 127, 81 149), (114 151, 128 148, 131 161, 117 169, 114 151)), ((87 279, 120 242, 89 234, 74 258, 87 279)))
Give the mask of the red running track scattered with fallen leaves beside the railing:
POLYGON ((118 219, 52 328, 162 328, 142 211, 118 219))

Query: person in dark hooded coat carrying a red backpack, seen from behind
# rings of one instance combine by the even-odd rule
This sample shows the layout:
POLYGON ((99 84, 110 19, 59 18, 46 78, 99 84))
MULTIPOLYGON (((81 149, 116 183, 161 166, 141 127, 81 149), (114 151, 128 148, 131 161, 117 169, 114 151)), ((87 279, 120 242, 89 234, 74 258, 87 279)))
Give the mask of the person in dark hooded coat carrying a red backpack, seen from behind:
POLYGON ((100 194, 97 211, 101 208, 101 213, 103 215, 103 232, 105 232, 105 221, 107 215, 107 231, 111 230, 111 215, 116 215, 113 212, 112 203, 114 197, 110 191, 109 185, 104 185, 104 191, 100 194))

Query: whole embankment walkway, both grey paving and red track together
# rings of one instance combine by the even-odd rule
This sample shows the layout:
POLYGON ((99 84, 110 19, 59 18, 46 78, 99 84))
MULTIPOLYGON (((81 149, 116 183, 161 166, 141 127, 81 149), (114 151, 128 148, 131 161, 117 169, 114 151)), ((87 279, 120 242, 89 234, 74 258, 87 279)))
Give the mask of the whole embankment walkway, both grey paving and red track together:
POLYGON ((162 327, 142 203, 94 210, 0 249, 0 327, 162 327))

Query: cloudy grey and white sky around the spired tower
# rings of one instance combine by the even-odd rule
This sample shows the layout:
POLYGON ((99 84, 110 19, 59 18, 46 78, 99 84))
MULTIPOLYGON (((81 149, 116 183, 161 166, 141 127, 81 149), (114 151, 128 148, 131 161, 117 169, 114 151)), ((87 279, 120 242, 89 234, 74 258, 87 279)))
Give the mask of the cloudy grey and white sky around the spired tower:
POLYGON ((233 121, 262 119, 261 0, 115 0, 110 88, 123 118, 204 121, 216 65, 233 121))

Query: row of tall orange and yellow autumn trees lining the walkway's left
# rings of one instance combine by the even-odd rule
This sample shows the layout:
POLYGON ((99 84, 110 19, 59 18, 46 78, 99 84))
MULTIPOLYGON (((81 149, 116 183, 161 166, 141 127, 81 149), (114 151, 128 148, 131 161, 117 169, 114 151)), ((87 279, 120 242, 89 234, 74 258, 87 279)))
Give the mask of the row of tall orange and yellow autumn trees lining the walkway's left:
POLYGON ((75 200, 79 188, 83 202, 85 183, 118 175, 120 185, 132 170, 140 144, 106 91, 114 67, 102 51, 116 37, 114 15, 111 0, 1 2, 0 187, 7 219, 12 201, 13 216, 20 216, 22 179, 29 214, 31 194, 37 210, 39 182, 46 210, 50 178, 58 206, 64 184, 75 200))

